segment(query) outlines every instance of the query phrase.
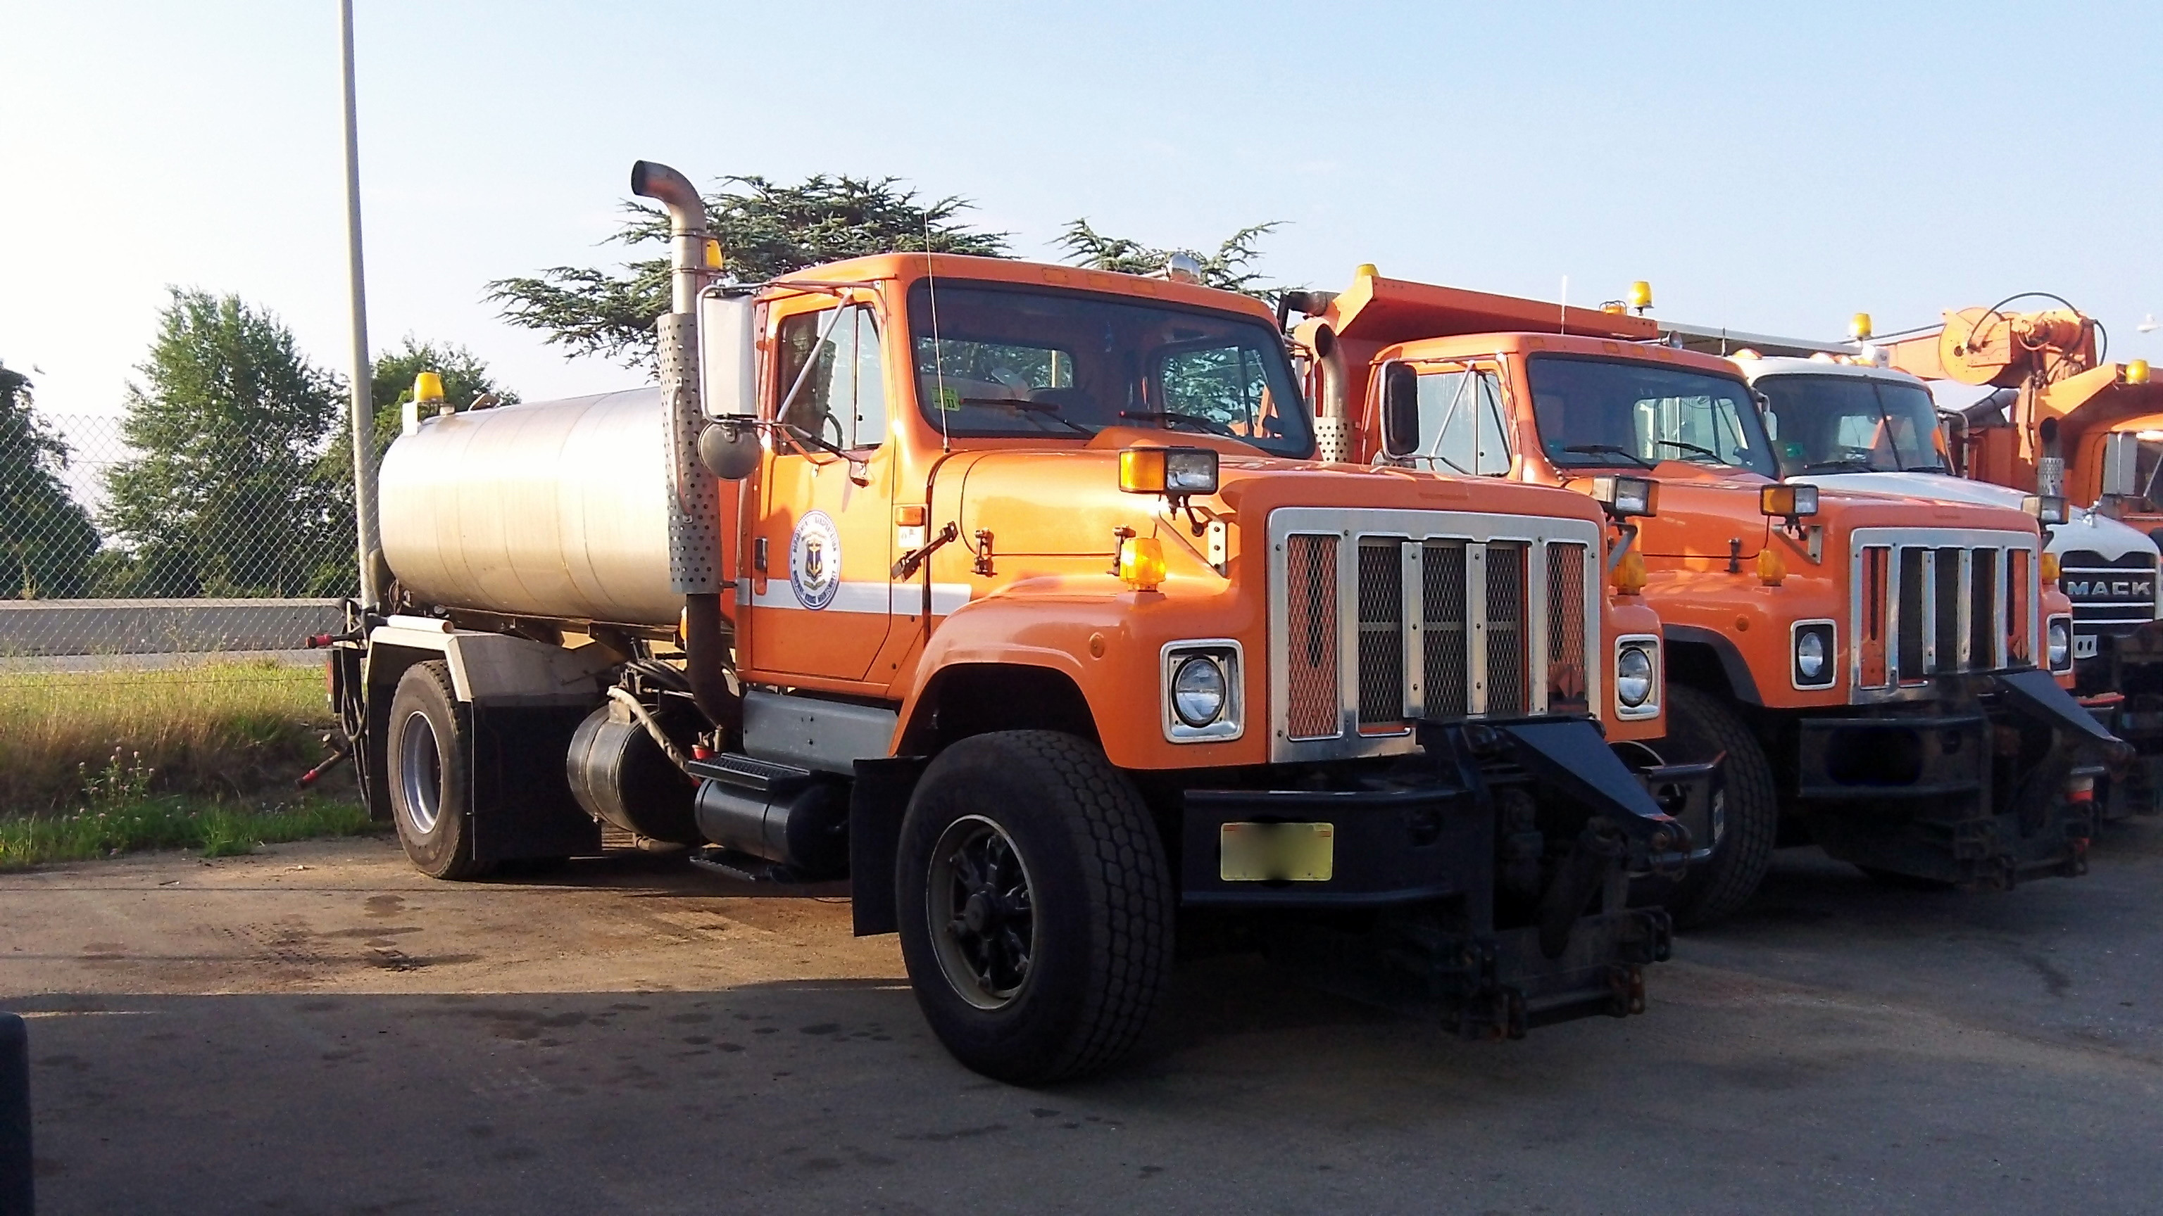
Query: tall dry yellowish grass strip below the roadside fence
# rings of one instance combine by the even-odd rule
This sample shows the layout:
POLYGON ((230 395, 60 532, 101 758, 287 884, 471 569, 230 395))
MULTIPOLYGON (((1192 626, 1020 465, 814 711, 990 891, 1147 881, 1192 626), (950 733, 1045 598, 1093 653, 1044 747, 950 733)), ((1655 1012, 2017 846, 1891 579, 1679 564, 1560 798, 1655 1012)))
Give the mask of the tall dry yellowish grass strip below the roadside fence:
MULTIPOLYGON (((322 671, 208 662, 158 671, 0 673, 0 811, 61 822, 106 805, 99 775, 138 794, 247 798, 322 757, 322 671)), ((344 785, 350 790, 350 785, 344 785)))

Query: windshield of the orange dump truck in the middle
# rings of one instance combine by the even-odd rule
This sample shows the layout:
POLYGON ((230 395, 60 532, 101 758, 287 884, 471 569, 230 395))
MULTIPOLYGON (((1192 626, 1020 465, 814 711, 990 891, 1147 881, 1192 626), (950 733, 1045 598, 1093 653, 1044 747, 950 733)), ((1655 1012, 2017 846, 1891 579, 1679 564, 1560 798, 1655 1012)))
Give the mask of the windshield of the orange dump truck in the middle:
POLYGON ((1534 355, 1527 366, 1540 450, 1557 470, 1691 461, 1776 476, 1739 379, 1577 355, 1534 355))

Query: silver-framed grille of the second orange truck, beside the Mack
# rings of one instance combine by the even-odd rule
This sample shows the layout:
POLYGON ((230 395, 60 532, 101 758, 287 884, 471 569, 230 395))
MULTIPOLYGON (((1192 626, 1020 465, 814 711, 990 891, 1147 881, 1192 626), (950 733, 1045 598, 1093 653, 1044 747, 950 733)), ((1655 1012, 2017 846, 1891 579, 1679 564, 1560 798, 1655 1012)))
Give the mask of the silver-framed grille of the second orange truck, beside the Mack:
POLYGON ((1966 528, 1858 528, 1849 638, 1858 695, 1932 675, 2033 666, 2035 539, 1966 528))

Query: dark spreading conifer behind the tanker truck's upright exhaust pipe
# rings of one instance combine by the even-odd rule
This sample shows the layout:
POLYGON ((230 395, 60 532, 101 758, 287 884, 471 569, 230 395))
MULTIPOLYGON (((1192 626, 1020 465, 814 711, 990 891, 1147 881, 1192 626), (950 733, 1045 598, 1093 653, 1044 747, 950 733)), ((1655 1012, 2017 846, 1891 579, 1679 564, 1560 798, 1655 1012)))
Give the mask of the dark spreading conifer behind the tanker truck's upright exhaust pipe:
MULTIPOLYGON (((969 199, 917 201, 900 177, 818 173, 787 186, 766 177, 722 177, 705 195, 707 225, 720 240, 722 273, 757 283, 805 266, 930 249, 1006 257, 1001 232, 978 232, 956 216, 969 199)), ((629 216, 610 240, 662 249, 627 266, 552 266, 536 277, 497 279, 487 299, 513 325, 547 331, 571 355, 608 355, 625 366, 653 364, 653 322, 668 312, 668 216, 647 201, 623 203, 629 216)))

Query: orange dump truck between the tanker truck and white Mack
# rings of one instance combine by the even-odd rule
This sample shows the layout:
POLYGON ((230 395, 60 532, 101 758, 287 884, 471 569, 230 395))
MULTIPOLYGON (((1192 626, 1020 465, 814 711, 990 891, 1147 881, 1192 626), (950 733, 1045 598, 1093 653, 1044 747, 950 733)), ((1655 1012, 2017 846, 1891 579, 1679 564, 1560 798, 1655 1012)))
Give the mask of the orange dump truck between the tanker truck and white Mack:
POLYGON ((1657 480, 1611 560, 1666 640, 1663 759, 1726 755, 1711 857, 1666 894, 1735 911, 1776 842, 1867 872, 2009 887, 2081 874, 2094 723, 2038 669, 2068 614, 2040 530, 2003 506, 1778 480, 1759 398, 1644 316, 1363 266, 1293 296, 1317 431, 1361 465, 1601 491, 1657 480))

